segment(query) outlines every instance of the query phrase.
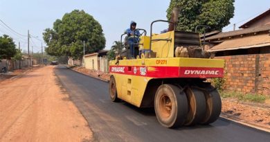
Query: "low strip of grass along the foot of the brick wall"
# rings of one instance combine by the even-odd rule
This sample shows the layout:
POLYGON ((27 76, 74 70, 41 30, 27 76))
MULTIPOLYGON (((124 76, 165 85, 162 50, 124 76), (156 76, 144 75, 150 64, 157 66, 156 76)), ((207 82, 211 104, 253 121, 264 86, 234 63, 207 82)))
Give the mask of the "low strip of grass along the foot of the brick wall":
POLYGON ((239 92, 222 92, 220 95, 222 98, 237 98, 237 100, 255 103, 264 103, 264 101, 267 99, 265 96, 260 94, 242 94, 239 92))

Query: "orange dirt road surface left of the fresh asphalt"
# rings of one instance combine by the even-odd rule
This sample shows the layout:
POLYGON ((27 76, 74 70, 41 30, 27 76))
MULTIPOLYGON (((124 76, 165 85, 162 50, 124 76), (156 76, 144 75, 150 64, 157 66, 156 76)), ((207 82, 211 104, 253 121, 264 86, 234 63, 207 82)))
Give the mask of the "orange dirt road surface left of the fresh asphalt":
POLYGON ((91 141, 87 121, 53 67, 0 83, 0 141, 91 141))

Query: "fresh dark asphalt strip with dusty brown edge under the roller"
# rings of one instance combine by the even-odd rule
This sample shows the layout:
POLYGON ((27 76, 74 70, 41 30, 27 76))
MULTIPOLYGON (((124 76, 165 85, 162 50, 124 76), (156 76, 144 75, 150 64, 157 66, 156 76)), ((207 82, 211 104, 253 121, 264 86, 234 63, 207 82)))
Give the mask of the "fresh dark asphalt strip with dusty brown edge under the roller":
POLYGON ((93 131, 94 141, 270 141, 270 133, 219 118, 210 125, 168 129, 154 109, 113 103, 109 84, 59 65, 55 74, 93 131))

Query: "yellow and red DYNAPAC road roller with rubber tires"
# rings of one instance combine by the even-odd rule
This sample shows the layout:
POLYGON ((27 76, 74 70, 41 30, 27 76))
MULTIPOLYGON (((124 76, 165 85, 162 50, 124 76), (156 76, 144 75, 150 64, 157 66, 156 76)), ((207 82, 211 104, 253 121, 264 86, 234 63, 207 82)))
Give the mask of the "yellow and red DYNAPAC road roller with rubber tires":
MULTIPOLYGON (((109 62, 109 96, 136 107, 154 107, 165 127, 213 123, 219 118, 222 101, 208 78, 224 77, 224 60, 210 57, 201 48, 198 33, 175 30, 174 22, 153 21, 150 36, 141 34, 134 50, 123 44, 116 60, 109 62), (153 24, 168 22, 174 28, 152 34, 153 24)), ((121 35, 121 43, 123 37, 121 35)), ((123 42, 124 43, 124 42, 123 42)))

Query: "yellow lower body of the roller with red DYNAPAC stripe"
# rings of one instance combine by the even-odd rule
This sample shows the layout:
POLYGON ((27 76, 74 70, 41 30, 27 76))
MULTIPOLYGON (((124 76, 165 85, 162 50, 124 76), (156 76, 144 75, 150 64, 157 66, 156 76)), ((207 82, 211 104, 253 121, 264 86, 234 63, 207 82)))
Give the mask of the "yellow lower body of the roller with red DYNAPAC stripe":
MULTIPOLYGON (((165 51, 165 49, 164 49, 165 51)), ((167 51, 170 53, 170 51, 167 51)), ((160 54, 161 55, 161 54, 160 54)), ((157 78, 221 78, 224 60, 159 57, 120 60, 110 64, 111 76, 116 80, 118 98, 141 107, 145 89, 150 80, 157 78)))

